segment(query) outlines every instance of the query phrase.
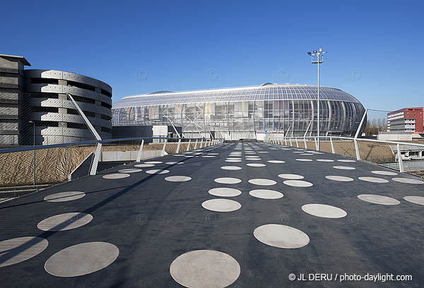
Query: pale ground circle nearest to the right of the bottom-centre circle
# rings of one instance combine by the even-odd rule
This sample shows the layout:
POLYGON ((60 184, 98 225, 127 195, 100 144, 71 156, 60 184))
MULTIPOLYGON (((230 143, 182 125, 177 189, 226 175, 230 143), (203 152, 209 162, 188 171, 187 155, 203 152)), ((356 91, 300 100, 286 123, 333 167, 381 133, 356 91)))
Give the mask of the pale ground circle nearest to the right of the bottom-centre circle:
POLYGON ((266 224, 254 229, 253 235, 262 243, 278 248, 301 248, 310 242, 299 229, 281 224, 266 224))

